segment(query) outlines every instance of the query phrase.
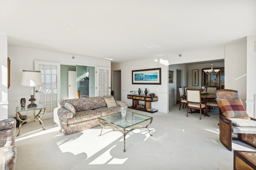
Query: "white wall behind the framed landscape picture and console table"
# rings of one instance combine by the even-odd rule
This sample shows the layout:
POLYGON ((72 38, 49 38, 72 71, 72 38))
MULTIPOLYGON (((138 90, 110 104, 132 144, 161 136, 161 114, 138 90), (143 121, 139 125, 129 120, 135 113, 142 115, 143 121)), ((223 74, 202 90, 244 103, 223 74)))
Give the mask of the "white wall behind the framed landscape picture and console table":
MULTIPOLYGON (((140 88, 144 92, 145 88, 149 93, 155 93, 158 101, 152 102, 152 108, 160 112, 168 113, 168 63, 166 56, 155 57, 144 60, 137 60, 111 65, 111 70, 121 70, 121 100, 132 105, 132 99, 127 99, 130 91, 138 91, 140 88), (162 84, 161 85, 135 85, 132 84, 132 70, 161 68, 162 84)), ((137 93, 138 94, 138 93, 137 93)))

